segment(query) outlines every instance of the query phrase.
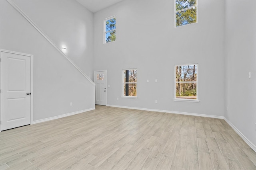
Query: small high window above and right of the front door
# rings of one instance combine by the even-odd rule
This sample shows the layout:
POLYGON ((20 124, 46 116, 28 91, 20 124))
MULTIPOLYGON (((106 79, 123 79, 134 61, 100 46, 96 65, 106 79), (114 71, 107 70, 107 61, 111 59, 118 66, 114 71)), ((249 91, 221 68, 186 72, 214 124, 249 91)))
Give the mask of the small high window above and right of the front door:
POLYGON ((116 17, 104 20, 104 43, 116 41, 116 17))

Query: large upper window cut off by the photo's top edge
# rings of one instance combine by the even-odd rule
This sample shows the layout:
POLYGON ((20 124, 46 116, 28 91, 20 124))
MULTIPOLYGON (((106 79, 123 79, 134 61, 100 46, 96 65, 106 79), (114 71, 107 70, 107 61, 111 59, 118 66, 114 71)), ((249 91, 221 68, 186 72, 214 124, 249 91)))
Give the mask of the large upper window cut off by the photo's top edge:
POLYGON ((175 27, 197 22, 197 0, 174 0, 175 27))

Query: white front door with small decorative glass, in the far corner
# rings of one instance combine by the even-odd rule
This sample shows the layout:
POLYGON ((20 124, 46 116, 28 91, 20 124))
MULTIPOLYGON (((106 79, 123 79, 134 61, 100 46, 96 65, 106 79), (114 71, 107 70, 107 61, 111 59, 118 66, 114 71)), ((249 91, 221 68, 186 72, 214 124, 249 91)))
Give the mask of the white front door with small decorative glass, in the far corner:
POLYGON ((95 83, 95 104, 107 104, 107 88, 106 88, 107 71, 94 71, 95 83))

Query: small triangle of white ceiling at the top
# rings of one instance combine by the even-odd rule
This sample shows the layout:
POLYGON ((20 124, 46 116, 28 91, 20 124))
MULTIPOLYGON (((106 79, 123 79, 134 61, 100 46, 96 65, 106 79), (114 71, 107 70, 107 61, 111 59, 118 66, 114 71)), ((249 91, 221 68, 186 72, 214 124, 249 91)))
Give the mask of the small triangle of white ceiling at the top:
POLYGON ((122 0, 76 0, 91 12, 97 12, 122 0))

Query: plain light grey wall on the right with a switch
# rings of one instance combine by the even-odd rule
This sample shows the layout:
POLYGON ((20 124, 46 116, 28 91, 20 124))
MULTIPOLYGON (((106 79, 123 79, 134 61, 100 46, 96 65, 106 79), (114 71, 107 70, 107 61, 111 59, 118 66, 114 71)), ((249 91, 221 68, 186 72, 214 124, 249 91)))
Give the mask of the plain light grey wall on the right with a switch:
POLYGON ((256 1, 226 0, 225 6, 225 117, 256 145, 256 1))

